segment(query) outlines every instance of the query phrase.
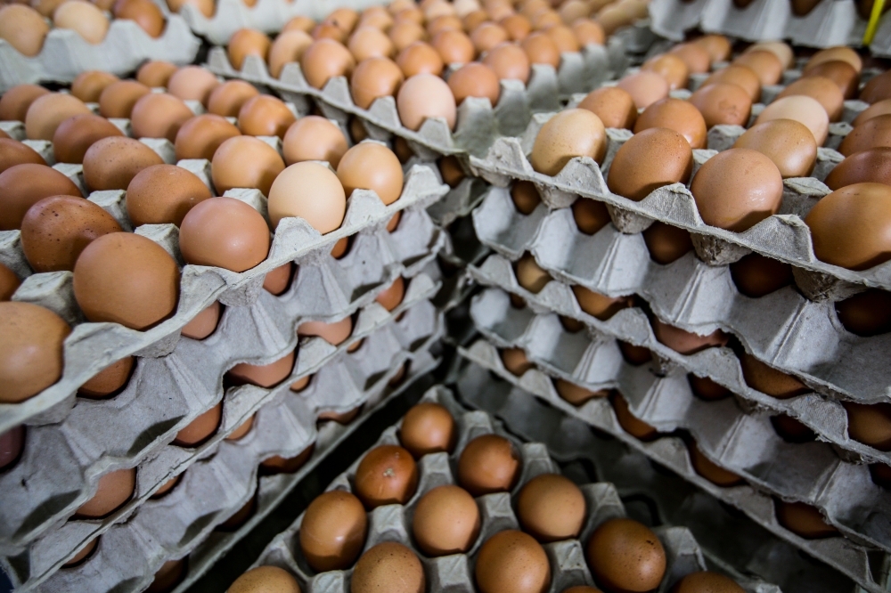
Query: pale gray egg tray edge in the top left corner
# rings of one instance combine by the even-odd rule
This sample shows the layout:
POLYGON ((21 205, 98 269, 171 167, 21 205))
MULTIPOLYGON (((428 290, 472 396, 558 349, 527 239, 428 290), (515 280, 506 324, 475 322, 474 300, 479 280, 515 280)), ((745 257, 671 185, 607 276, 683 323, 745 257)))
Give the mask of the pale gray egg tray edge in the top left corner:
POLYGON ((183 17, 168 14, 166 20, 164 32, 154 38, 134 20, 112 19, 108 34, 96 45, 72 29, 51 28, 43 48, 33 58, 0 40, 0 93, 15 85, 69 83, 86 70, 124 75, 147 60, 192 63, 200 39, 192 35, 183 17))

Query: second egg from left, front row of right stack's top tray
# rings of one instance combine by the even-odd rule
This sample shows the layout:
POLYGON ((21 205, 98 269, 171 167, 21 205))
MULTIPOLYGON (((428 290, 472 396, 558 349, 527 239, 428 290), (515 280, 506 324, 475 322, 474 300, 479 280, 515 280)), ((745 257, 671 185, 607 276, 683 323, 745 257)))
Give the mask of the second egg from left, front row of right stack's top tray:
POLYGON ((663 185, 687 183, 692 167, 693 151, 682 134, 650 128, 634 134, 617 150, 607 184, 609 191, 640 201, 663 185))

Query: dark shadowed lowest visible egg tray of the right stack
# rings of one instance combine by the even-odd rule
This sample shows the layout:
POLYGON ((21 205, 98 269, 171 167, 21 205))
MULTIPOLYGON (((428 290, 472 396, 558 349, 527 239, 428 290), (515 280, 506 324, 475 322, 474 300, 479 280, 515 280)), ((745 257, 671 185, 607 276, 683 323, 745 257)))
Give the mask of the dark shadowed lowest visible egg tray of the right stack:
POLYGON ((557 394, 535 390, 528 379, 539 371, 516 378, 496 364, 486 366, 486 358, 478 359, 473 348, 461 354, 465 360, 450 380, 464 405, 486 410, 514 435, 540 440, 561 462, 579 459, 581 453, 596 475, 617 483, 620 494, 632 500, 643 496, 667 523, 689 525, 698 533, 709 565, 732 575, 757 574, 783 591, 887 590, 887 556, 868 555, 843 538, 799 538, 777 523, 770 497, 747 486, 720 488, 699 476, 680 438, 643 443, 625 433, 610 410, 595 416, 587 407, 576 408, 557 394))

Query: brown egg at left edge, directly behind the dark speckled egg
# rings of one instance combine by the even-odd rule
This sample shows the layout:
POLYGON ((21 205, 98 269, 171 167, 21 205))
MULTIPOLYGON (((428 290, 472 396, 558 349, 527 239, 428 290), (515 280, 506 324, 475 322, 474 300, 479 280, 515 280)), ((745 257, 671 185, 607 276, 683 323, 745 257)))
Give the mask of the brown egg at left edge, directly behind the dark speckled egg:
POLYGON ((28 209, 50 196, 82 197, 78 186, 52 167, 23 163, 0 173, 0 231, 20 229, 28 209))

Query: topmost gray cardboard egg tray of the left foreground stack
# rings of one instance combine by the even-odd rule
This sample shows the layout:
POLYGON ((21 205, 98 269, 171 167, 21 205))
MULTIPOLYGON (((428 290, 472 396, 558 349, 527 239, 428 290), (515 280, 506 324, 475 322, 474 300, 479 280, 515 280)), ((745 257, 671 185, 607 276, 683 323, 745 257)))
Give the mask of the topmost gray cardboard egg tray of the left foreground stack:
MULTIPOLYGON (((273 139, 269 139, 270 142, 273 139)), ((274 139, 276 142, 278 139, 274 139)), ((274 144, 276 142, 273 142, 274 144)), ((166 139, 146 140, 159 153, 169 148, 166 139)), ((172 151, 170 151, 172 154, 172 151)), ((179 165, 192 170, 208 184, 210 169, 207 160, 183 160, 179 165)), ((56 165, 66 175, 83 187, 82 167, 79 165, 56 165)), ((212 185, 212 184, 211 184, 212 185)), ((215 300, 224 305, 250 305, 257 300, 259 293, 264 292, 262 285, 266 272, 289 261, 298 264, 315 264, 331 259, 328 255, 331 247, 341 238, 357 232, 369 230, 380 232, 379 240, 371 240, 371 245, 378 245, 374 265, 385 268, 380 277, 363 277, 363 266, 359 266, 358 274, 347 280, 343 274, 337 283, 328 282, 322 286, 308 289, 318 291, 329 289, 331 296, 339 297, 334 310, 314 313, 319 319, 331 319, 346 305, 343 301, 353 300, 361 293, 374 288, 374 284, 392 280, 398 274, 399 261, 404 265, 415 264, 418 257, 431 256, 430 252, 437 248, 437 231, 429 221, 429 216, 422 211, 431 203, 441 198, 448 191, 448 186, 440 183, 431 167, 412 167, 405 175, 405 186, 402 196, 389 206, 384 206, 373 191, 356 190, 347 199, 347 213, 344 222, 336 231, 320 235, 302 218, 285 218, 274 234, 269 256, 264 262, 247 272, 231 272, 217 267, 184 265, 180 280, 180 297, 176 314, 154 328, 146 331, 127 329, 115 323, 79 323, 65 340, 65 366, 61 379, 53 386, 47 387, 40 394, 20 403, 0 404, 0 432, 23 422, 29 424, 59 422, 74 404, 74 394, 78 386, 111 362, 125 356, 135 354, 139 357, 159 357, 172 352, 180 337, 180 330, 192 318, 203 311, 215 300), (384 228, 396 212, 405 210, 404 220, 393 233, 386 233, 384 228), (411 222, 410 222, 411 221, 411 222), (420 227, 415 228, 415 225, 420 227), (433 234, 430 234, 433 233, 433 234), (399 254, 399 256, 388 255, 399 254), (401 258, 400 258, 401 256, 401 258), (337 284, 345 292, 337 294, 337 284), (351 294, 351 293, 359 294, 351 294), (345 298, 344 298, 345 297, 345 298), (97 353, 100 355, 97 356, 97 353)), ((247 202, 266 217, 266 198, 257 190, 230 190, 226 196, 247 202)), ((89 199, 103 207, 110 215, 118 219, 121 226, 128 230, 132 224, 127 217, 124 191, 95 191, 89 199)), ((138 234, 157 241, 174 256, 182 265, 178 249, 178 229, 173 224, 147 224, 136 229, 138 234)), ((345 260, 356 259, 346 257, 345 260)), ((362 259, 358 257, 358 259, 362 259)), ((0 232, 0 261, 12 268, 21 279, 26 279, 13 300, 22 300, 47 306, 59 313, 66 321, 82 321, 79 309, 72 292, 71 272, 49 272, 32 274, 20 248, 20 232, 0 232)), ((373 260, 372 260, 373 261, 373 260)), ((419 266, 422 267, 422 266, 419 266)), ((334 280, 334 279, 331 279, 334 280)), ((383 287, 381 287, 383 288, 383 287)), ((331 296, 326 296, 330 298, 331 296)), ((315 296, 314 296, 315 298, 315 296)), ((372 298, 367 299, 371 301, 372 298)), ((316 305, 321 302, 315 302, 316 305)), ((342 318, 340 314, 338 319, 342 318)))

